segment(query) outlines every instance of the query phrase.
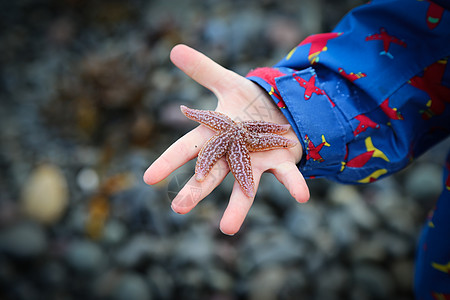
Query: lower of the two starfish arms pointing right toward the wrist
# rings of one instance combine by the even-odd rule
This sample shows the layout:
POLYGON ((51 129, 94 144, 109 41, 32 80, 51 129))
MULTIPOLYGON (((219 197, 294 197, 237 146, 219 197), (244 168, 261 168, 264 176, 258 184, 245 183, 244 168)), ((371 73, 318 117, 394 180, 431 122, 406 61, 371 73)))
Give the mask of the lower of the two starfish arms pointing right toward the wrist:
POLYGON ((249 133, 246 143, 247 149, 250 152, 266 151, 277 148, 290 148, 297 144, 293 140, 273 133, 249 133))

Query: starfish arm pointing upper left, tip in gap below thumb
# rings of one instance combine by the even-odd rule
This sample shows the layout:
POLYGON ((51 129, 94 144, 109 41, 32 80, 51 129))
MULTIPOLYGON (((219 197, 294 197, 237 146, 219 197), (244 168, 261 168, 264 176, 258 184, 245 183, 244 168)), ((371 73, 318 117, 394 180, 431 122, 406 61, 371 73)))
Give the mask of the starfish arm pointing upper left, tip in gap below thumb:
POLYGON ((233 120, 228 116, 217 111, 192 109, 184 105, 181 105, 180 109, 189 119, 199 122, 216 132, 227 130, 234 124, 233 120))

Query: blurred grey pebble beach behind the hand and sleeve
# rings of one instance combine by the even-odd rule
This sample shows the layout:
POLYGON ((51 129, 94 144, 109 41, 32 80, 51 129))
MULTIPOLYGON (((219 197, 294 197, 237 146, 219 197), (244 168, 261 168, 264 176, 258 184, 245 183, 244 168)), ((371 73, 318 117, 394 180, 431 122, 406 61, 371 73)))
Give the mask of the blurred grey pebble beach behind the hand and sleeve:
POLYGON ((16 0, 0 4, 0 299, 412 299, 415 245, 445 146, 365 186, 272 175, 234 237, 232 178, 170 209, 192 162, 148 165, 212 94, 177 70, 186 43, 242 75, 270 66, 361 1, 16 0))

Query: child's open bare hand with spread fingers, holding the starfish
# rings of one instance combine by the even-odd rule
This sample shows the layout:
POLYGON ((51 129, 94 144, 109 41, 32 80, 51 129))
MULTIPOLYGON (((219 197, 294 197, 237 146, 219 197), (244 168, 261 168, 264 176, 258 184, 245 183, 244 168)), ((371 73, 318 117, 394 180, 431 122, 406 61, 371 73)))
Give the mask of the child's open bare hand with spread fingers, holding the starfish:
MULTIPOLYGON (((170 59, 189 77, 216 95, 216 111, 239 121, 264 120, 288 124, 272 99, 258 85, 223 68, 198 51, 178 45, 172 49, 170 59)), ((212 130, 202 125, 188 132, 153 162, 144 174, 144 181, 147 184, 158 183, 178 167, 197 157, 203 144, 213 134, 212 130)), ((301 144, 292 129, 283 136, 295 140, 297 145, 288 149, 250 153, 255 187, 258 188, 262 173, 268 171, 284 184, 298 202, 306 202, 309 190, 296 166, 302 157, 301 144)), ((172 209, 181 214, 189 212, 223 181, 228 172, 227 162, 222 158, 203 181, 199 182, 192 177, 173 199, 172 209), (199 193, 192 193, 192 188, 199 193)), ((235 182, 230 202, 220 222, 222 232, 232 235, 239 231, 252 203, 253 198, 248 198, 235 182)))

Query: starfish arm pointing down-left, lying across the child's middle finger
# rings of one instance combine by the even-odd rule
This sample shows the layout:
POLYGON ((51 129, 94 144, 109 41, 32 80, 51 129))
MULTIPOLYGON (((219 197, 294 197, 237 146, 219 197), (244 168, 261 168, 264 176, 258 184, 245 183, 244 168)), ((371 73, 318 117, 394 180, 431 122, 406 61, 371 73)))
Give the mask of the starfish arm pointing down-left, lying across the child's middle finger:
POLYGON ((195 165, 195 179, 203 181, 216 162, 225 155, 230 144, 229 131, 213 135, 200 150, 195 165))

